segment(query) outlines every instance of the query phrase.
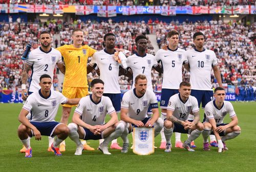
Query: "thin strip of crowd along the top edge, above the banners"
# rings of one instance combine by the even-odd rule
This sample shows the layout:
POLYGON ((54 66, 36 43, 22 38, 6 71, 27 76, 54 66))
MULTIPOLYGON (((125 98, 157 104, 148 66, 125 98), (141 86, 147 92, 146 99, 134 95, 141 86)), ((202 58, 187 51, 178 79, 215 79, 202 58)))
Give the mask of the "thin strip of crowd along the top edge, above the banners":
POLYGON ((0 4, 59 4, 59 5, 109 5, 109 6, 148 6, 148 5, 160 5, 160 6, 221 6, 221 5, 254 5, 254 0, 0 0, 0 4))

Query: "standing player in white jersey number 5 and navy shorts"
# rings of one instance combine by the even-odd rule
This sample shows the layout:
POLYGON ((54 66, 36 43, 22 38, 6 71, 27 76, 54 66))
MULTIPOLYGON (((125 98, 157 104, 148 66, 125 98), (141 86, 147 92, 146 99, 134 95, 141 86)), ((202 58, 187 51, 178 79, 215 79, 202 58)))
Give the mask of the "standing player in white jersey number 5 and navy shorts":
MULTIPOLYGON (((170 31, 167 34, 167 41, 169 45, 167 50, 160 49, 157 51, 155 57, 158 62, 161 62, 163 68, 163 81, 161 91, 161 118, 166 118, 166 108, 170 97, 179 93, 179 84, 182 82, 182 65, 184 64, 184 56, 182 53, 185 50, 178 48, 179 33, 176 30, 170 31)), ((175 147, 183 148, 180 140, 180 133, 175 133, 176 141, 175 147)), ((166 141, 161 131, 161 145, 160 149, 165 149, 166 141)))

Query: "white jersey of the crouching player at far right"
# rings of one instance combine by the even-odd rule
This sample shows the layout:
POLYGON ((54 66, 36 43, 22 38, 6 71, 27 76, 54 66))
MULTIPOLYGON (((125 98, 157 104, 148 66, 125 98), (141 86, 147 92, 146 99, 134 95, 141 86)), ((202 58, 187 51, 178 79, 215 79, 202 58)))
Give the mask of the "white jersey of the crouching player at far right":
POLYGON ((214 118, 216 120, 216 124, 222 124, 226 114, 229 114, 230 118, 236 116, 236 112, 234 112, 232 104, 228 101, 224 101, 221 109, 218 109, 215 101, 210 101, 206 104, 204 112, 206 115, 206 121, 208 122, 209 119, 214 118))

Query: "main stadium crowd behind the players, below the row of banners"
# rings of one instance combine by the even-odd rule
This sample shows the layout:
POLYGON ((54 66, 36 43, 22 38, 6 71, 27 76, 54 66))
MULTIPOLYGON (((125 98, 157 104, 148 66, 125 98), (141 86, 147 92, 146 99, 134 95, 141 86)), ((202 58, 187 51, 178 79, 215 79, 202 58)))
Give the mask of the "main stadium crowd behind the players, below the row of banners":
MULTIPOLYGON (((108 22, 95 22, 88 20, 48 20, 45 23, 0 23, 0 89, 17 90, 21 84, 23 61, 20 57, 23 48, 28 42, 37 47, 38 34, 48 30, 52 35, 60 35, 60 45, 71 43, 71 31, 74 28, 81 28, 86 33, 84 44, 88 44, 96 50, 102 50, 103 35, 113 32, 116 35, 116 47, 136 52, 135 37, 140 34, 148 34, 149 26, 144 21, 135 23, 119 22, 111 19, 108 22), (60 32, 59 32, 60 31, 60 32)), ((179 47, 185 50, 193 48, 192 35, 196 31, 202 31, 206 36, 205 48, 215 51, 220 65, 223 83, 231 85, 254 85, 256 82, 255 69, 255 24, 243 26, 238 22, 223 23, 219 21, 198 21, 196 23, 165 23, 159 21, 154 32, 157 35, 159 47, 166 43, 166 33, 176 29, 180 33, 179 47)), ((56 47, 58 40, 53 40, 52 46, 56 47)), ((151 43, 148 44, 148 53, 154 54, 151 43)), ((96 72, 88 76, 89 81, 96 78, 96 72)), ((184 78, 189 79, 189 72, 184 72, 184 78)), ((54 77, 54 86, 61 90, 57 84, 58 78, 54 77)), ((152 81, 156 90, 161 90, 161 76, 152 71, 152 81)), ((217 83, 212 75, 212 83, 217 83)), ((121 89, 129 89, 131 81, 120 77, 121 89)))

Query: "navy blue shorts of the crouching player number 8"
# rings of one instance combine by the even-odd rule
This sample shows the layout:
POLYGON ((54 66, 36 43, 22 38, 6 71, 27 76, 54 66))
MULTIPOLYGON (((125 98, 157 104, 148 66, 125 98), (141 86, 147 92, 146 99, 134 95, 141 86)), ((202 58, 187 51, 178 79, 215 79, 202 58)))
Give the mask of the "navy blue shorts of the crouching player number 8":
MULTIPOLYGON (((52 122, 33 122, 30 121, 30 123, 35 126, 37 128, 37 130, 39 130, 39 132, 41 133, 41 135, 43 136, 53 136, 53 132, 54 130, 57 128, 58 125, 60 125, 61 123, 56 122, 56 121, 52 121, 52 122)), ((34 136, 33 131, 32 132, 32 136, 34 136)))

